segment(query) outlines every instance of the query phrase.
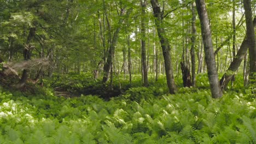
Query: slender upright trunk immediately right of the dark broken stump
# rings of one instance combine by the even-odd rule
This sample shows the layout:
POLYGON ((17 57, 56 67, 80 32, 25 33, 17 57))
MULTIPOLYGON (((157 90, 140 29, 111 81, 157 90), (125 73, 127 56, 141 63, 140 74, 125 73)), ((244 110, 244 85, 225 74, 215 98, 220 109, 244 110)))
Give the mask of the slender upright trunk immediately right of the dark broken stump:
POLYGON ((191 10, 192 10, 192 37, 191 37, 191 65, 192 65, 192 86, 195 87, 196 83, 196 73, 195 73, 195 40, 196 40, 196 26, 195 26, 195 20, 196 20, 196 13, 195 13, 195 2, 191 4, 191 10))

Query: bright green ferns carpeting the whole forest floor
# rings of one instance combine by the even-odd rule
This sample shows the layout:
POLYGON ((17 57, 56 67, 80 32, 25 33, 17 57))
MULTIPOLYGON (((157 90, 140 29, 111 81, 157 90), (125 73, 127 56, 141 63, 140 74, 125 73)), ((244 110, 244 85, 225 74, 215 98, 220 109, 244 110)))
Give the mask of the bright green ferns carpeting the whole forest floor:
POLYGON ((86 74, 44 80, 36 93, 1 87, 0 143, 256 143, 255 94, 241 76, 221 99, 211 98, 206 75, 175 95, 164 78, 145 88, 133 77, 112 91, 86 74), (106 101, 108 92, 119 97, 106 101))

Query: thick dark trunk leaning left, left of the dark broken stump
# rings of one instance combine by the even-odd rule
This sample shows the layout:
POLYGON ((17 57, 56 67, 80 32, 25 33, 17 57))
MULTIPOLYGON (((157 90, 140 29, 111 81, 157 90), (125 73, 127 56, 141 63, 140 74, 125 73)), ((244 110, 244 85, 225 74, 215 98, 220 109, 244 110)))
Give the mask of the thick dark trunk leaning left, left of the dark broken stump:
POLYGON ((170 53, 170 44, 168 39, 166 38, 165 29, 162 26, 162 19, 163 19, 163 11, 161 11, 158 0, 150 0, 154 17, 155 19, 155 25, 158 29, 158 37, 160 39, 161 47, 162 47, 162 55, 164 56, 165 61, 165 71, 166 71, 166 80, 167 80, 167 86, 169 89, 169 92, 171 94, 174 94, 177 91, 176 84, 174 83, 173 78, 173 70, 172 70, 172 59, 171 59, 171 53, 170 53))

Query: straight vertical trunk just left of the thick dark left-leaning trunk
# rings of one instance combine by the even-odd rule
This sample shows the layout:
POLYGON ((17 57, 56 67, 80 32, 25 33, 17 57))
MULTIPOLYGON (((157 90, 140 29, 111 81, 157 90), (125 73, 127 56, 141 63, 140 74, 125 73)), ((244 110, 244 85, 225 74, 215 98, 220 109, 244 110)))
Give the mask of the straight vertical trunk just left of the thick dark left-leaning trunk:
POLYGON ((146 0, 141 0, 141 53, 142 53, 142 67, 143 67, 143 85, 148 87, 148 68, 147 68, 147 58, 146 58, 146 0))

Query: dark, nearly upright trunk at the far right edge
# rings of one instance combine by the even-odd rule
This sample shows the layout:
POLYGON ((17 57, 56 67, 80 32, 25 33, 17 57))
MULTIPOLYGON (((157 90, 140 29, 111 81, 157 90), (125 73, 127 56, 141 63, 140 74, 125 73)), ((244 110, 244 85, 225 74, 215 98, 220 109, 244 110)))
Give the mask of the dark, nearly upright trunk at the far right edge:
POLYGON ((249 47, 249 63, 250 63, 249 83, 255 86, 256 84, 256 41, 255 41, 255 33, 254 33, 253 18, 252 18, 251 0, 243 0, 243 6, 245 8, 246 35, 247 35, 248 47, 249 47))

